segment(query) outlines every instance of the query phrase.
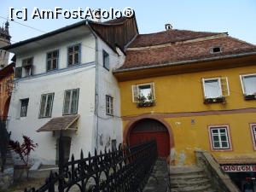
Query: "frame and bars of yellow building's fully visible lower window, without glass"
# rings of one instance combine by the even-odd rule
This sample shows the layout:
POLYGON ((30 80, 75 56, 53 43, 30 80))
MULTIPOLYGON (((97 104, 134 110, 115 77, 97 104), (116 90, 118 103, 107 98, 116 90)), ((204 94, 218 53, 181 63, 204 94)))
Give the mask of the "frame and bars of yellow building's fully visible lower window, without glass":
POLYGON ((211 148, 212 150, 224 150, 224 151, 229 151, 229 150, 232 150, 232 143, 231 143, 231 137, 230 137, 230 127, 229 125, 210 125, 208 127, 209 129, 209 139, 211 141, 211 148), (227 138, 227 141, 224 141, 224 142, 227 142, 228 143, 228 146, 227 147, 222 147, 222 140, 221 140, 221 133, 220 133, 220 130, 221 129, 224 129, 225 130, 225 134, 224 136, 227 138), (219 143, 219 147, 214 147, 214 140, 213 140, 213 136, 216 136, 213 135, 212 131, 213 130, 218 130, 218 143, 219 143))

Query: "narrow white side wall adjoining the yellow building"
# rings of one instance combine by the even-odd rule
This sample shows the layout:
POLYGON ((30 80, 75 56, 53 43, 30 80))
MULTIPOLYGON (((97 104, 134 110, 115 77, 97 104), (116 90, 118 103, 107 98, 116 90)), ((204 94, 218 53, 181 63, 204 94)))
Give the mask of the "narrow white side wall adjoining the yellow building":
POLYGON ((122 120, 120 113, 120 90, 117 80, 113 77, 112 70, 122 64, 124 55, 119 52, 118 55, 113 49, 110 49, 102 40, 98 41, 98 149, 105 147, 111 148, 111 140, 115 139, 117 145, 123 142, 122 120), (110 70, 103 67, 102 50, 109 54, 110 70), (113 116, 106 114, 106 95, 113 97, 113 116))

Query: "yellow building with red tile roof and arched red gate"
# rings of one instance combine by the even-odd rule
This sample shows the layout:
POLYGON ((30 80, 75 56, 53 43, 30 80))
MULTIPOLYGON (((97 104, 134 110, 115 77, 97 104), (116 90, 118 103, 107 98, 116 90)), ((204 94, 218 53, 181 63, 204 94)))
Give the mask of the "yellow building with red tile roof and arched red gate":
POLYGON ((138 35, 119 80, 125 143, 155 138, 172 165, 195 150, 223 165, 256 164, 256 46, 227 33, 138 35))

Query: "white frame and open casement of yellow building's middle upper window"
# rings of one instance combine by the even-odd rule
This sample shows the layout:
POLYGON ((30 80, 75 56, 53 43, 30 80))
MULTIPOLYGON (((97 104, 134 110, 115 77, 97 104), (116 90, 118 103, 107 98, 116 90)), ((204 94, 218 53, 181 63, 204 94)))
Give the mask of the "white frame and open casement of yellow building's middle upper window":
POLYGON ((216 97, 207 97, 206 96, 206 81, 211 81, 211 80, 218 80, 218 94, 220 96, 230 96, 230 85, 229 85, 229 79, 227 77, 224 77, 224 78, 221 78, 221 77, 218 77, 218 78, 203 78, 201 79, 202 81, 202 87, 203 87, 203 91, 204 91, 204 97, 206 99, 214 99, 216 97), (227 94, 224 95, 224 88, 223 88, 223 84, 221 83, 221 80, 224 79, 226 81, 226 86, 227 86, 227 94))

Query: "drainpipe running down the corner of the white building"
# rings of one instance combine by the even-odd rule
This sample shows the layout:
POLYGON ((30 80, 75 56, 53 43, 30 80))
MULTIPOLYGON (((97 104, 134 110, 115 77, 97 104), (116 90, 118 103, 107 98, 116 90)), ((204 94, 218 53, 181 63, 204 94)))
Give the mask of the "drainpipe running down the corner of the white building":
MULTIPOLYGON (((99 71, 99 65, 98 65, 98 38, 96 36, 96 33, 93 31, 93 29, 90 27, 90 22, 88 20, 85 21, 86 26, 90 28, 90 32, 94 35, 96 38, 96 84, 95 84, 95 111, 94 111, 94 125, 95 125, 95 130, 94 130, 94 137, 95 137, 95 143, 94 143, 94 148, 96 150, 98 149, 98 103, 99 103, 99 94, 98 94, 98 84, 99 84, 99 79, 98 79, 98 71, 99 71)), ((93 148, 92 148, 93 149, 93 148)), ((94 151, 94 150, 93 150, 94 151)))

